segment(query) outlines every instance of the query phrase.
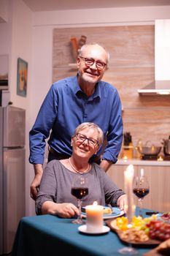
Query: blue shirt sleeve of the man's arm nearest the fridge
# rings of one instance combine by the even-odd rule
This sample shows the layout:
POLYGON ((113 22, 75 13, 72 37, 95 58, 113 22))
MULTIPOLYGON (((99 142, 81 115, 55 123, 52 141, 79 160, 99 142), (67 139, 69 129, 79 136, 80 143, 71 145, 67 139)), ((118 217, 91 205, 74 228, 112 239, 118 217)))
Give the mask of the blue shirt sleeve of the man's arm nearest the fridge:
POLYGON ((29 132, 30 156, 29 162, 32 164, 43 164, 45 154, 45 140, 50 135, 50 129, 57 116, 58 95, 54 86, 51 86, 44 102, 36 117, 36 121, 29 132))

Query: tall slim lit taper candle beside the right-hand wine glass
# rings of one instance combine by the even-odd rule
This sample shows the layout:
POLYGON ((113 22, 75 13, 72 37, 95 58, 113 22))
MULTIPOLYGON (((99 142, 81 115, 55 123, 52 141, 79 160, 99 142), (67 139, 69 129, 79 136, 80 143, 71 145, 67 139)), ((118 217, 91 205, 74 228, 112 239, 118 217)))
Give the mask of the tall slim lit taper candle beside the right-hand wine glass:
POLYGON ((127 217, 128 222, 131 223, 131 219, 134 215, 134 200, 133 200, 133 179, 134 179, 134 165, 128 165, 124 171, 125 178, 125 193, 127 195, 128 206, 127 206, 127 217))

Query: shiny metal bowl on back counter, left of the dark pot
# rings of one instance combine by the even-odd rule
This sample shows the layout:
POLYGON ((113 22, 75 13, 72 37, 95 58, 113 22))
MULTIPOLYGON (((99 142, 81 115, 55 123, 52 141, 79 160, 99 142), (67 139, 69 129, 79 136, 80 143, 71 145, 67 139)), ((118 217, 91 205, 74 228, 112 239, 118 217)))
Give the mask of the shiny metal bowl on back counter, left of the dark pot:
POLYGON ((150 140, 147 140, 147 143, 145 143, 145 146, 138 146, 137 150, 142 155, 157 156, 160 153, 162 147, 154 146, 153 144, 149 145, 149 143, 151 143, 150 140))

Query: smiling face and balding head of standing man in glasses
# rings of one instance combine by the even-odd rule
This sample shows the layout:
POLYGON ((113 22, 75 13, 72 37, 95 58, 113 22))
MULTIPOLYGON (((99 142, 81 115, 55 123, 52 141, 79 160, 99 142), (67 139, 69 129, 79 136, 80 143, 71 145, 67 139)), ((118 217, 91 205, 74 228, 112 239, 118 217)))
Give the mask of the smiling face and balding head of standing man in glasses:
POLYGON ((82 51, 81 57, 77 58, 80 80, 96 84, 106 70, 107 52, 99 45, 89 45, 82 51))

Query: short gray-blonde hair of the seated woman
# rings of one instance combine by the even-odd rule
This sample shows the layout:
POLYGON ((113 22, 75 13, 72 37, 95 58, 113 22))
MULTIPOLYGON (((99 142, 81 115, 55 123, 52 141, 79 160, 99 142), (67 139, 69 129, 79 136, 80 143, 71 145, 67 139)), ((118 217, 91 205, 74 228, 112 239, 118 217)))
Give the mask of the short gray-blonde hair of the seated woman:
POLYGON ((100 127, 98 127, 97 124, 90 123, 90 122, 85 122, 80 124, 75 130, 74 130, 74 135, 77 135, 77 133, 81 132, 85 128, 93 128, 96 129, 98 132, 98 146, 101 146, 104 140, 104 133, 100 127))

